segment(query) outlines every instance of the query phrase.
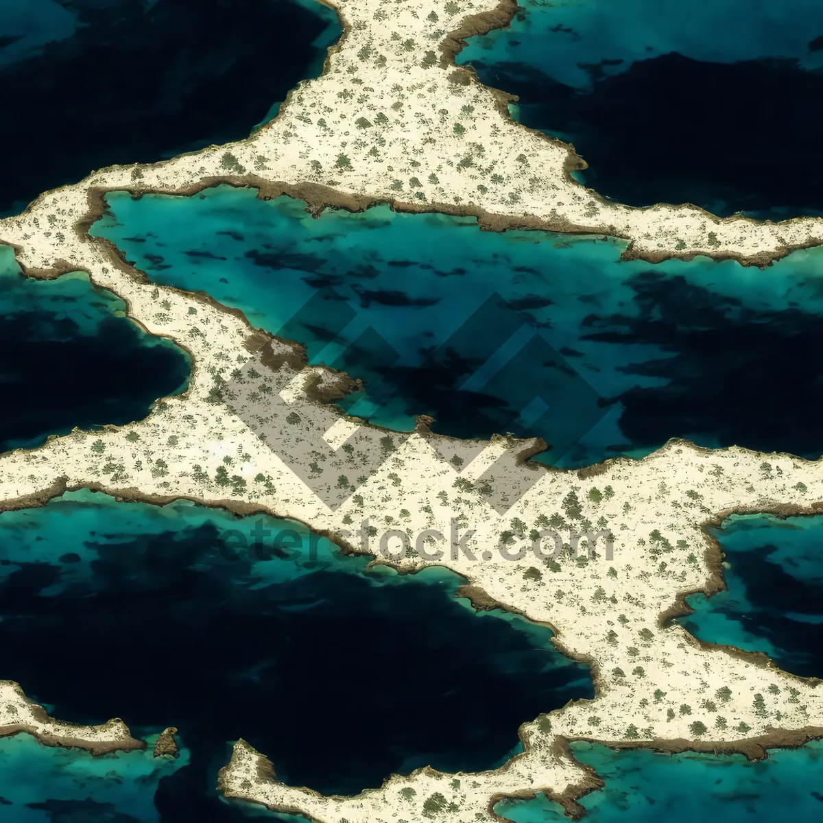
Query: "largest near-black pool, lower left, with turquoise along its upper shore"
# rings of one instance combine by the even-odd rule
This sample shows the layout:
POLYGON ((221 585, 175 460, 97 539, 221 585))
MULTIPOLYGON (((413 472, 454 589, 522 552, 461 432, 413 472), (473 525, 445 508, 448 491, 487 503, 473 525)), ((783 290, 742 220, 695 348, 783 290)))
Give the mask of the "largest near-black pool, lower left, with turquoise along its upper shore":
MULTIPOLYGON (((180 729, 188 765, 144 787, 156 792, 148 820, 241 819, 213 792, 239 737, 288 783, 356 793, 426 764, 493 767, 521 723, 593 696, 551 632, 477 616, 444 570, 366 575, 367 559, 320 538, 313 556, 305 529, 275 518, 263 525, 295 528, 300 558, 229 560, 221 533, 250 533, 256 519, 92 492, 0 514, 3 677, 65 720, 180 729)), ((133 761, 114 769, 147 768, 133 761)), ((48 775, 40 801, 63 799, 48 775)))

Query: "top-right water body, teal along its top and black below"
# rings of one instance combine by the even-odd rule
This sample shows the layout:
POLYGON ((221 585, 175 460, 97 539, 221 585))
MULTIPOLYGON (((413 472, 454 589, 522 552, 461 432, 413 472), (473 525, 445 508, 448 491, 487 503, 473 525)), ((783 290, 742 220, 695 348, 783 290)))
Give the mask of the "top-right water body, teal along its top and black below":
POLYGON ((817 0, 524 0, 458 63, 572 142, 587 186, 633 206, 783 219, 823 210, 817 0))

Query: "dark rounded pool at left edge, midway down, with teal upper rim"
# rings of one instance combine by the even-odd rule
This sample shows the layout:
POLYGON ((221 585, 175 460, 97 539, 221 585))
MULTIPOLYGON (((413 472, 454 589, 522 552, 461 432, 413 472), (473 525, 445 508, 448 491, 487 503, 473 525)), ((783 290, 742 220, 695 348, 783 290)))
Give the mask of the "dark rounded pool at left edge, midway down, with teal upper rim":
POLYGON ((0 245, 0 452, 34 448, 75 426, 141 420, 188 386, 190 358, 147 335, 125 305, 82 273, 21 276, 0 245))

